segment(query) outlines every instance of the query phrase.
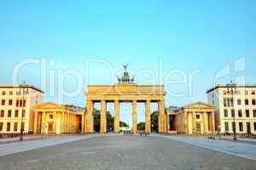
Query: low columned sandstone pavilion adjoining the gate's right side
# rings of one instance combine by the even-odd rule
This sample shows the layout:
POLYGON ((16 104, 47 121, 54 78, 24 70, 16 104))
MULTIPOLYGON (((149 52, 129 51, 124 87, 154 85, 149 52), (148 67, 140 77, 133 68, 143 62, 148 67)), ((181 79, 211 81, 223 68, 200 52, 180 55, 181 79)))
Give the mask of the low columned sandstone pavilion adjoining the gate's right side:
POLYGON ((166 110, 168 133, 215 133, 214 106, 203 102, 183 105, 177 110, 166 110))

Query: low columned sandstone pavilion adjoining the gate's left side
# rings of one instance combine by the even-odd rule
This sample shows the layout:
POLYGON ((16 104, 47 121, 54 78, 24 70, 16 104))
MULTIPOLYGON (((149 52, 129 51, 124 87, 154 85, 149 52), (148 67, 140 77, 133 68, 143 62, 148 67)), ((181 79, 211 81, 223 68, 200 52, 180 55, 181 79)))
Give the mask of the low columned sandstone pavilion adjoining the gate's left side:
POLYGON ((34 133, 83 133, 84 111, 45 102, 35 105, 34 133))

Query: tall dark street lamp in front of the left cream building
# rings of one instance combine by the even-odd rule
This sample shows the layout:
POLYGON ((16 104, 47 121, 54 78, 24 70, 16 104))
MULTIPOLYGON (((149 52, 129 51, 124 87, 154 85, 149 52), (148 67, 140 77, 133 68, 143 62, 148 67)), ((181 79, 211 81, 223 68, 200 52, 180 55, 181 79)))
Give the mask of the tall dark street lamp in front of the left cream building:
POLYGON ((20 116, 20 141, 23 140, 23 132, 24 132, 24 124, 23 124, 23 110, 25 106, 25 94, 28 94, 28 85, 26 85, 25 82, 23 84, 20 84, 20 94, 22 94, 22 100, 21 100, 21 116, 20 116))

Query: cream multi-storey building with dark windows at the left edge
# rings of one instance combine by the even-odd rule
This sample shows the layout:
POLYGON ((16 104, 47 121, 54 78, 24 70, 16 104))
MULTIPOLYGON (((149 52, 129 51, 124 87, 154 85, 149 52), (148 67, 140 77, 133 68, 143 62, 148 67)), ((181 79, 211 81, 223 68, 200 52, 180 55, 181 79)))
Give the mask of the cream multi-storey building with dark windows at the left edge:
POLYGON ((20 85, 0 85, 0 133, 18 134, 21 124, 24 133, 32 133, 33 107, 42 103, 43 99, 44 92, 32 85, 22 85, 22 88, 20 85))

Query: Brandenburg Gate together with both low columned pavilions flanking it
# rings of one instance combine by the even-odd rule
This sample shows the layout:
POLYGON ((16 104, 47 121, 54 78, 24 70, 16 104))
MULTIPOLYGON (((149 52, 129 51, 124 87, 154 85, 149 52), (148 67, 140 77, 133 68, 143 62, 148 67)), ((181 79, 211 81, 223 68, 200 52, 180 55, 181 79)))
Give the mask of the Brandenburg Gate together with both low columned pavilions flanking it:
POLYGON ((151 103, 158 104, 158 133, 214 133, 215 117, 213 105, 196 102, 176 110, 165 109, 165 88, 163 85, 137 85, 128 71, 118 77, 114 85, 89 85, 87 87, 86 109, 73 111, 64 105, 52 102, 35 106, 35 133, 95 133, 94 105, 101 105, 100 133, 107 133, 107 105, 113 103, 113 133, 119 133, 120 103, 132 105, 133 133, 137 133, 137 103, 145 103, 145 133, 151 133, 151 103))

